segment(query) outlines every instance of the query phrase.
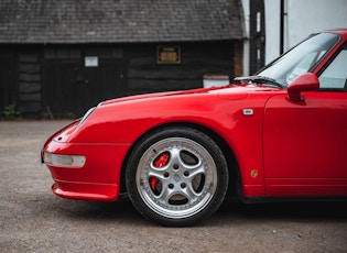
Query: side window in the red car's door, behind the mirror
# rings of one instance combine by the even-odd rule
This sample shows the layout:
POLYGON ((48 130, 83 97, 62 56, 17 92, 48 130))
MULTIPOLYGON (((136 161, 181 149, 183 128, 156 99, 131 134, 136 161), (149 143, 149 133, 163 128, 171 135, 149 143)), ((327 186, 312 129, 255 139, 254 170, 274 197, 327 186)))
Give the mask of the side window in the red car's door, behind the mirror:
POLYGON ((347 81, 347 45, 321 74, 321 89, 344 89, 347 81))

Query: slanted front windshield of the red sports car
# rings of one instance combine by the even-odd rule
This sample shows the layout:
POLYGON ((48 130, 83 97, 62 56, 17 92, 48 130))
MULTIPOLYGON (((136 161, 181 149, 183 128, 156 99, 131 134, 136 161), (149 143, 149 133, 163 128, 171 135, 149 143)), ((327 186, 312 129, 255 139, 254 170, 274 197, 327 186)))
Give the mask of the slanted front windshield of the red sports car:
POLYGON ((276 82, 288 86, 301 74, 312 72, 338 40, 339 35, 335 33, 315 34, 273 61, 256 75, 272 78, 276 82))

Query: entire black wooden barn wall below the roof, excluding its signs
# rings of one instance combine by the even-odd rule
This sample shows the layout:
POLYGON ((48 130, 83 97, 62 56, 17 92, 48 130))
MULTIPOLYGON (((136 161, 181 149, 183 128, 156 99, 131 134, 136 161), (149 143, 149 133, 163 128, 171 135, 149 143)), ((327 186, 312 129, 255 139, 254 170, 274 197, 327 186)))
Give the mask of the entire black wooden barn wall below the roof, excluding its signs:
POLYGON ((234 78, 241 56, 241 41, 11 47, 0 54, 8 80, 0 86, 0 110, 12 103, 23 117, 80 117, 106 99, 199 88, 204 75, 234 78), (158 46, 172 45, 181 62, 159 64, 158 46), (86 56, 98 57, 98 66, 85 66, 86 56))

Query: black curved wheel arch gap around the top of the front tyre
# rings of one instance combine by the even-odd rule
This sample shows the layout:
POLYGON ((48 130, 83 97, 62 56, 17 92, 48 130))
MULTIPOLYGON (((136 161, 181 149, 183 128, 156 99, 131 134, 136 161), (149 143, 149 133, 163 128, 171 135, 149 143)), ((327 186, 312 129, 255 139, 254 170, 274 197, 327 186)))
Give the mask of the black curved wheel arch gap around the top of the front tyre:
POLYGON ((153 132, 160 131, 161 129, 165 129, 165 128, 191 128, 191 129, 195 129, 198 130, 203 133, 205 133, 206 135, 208 135, 210 139, 213 139, 216 144, 219 146, 219 148, 221 150, 223 154, 225 155, 225 158, 227 161, 227 165, 228 165, 228 172, 229 172, 229 182, 228 182, 228 190, 227 190, 227 197, 226 198, 230 198, 230 197, 237 197, 239 196, 239 193, 241 190, 241 178, 240 178, 240 173, 239 173, 239 166, 238 166, 238 162, 237 162, 237 157, 234 153, 234 151, 231 150, 231 147, 227 144, 227 142, 215 131, 213 131, 212 129, 200 125, 200 124, 196 124, 196 123, 192 123, 192 122, 173 122, 173 123, 165 123, 165 124, 161 124, 158 125, 155 128, 150 129, 149 131, 147 131, 145 133, 143 133, 129 148, 126 158, 122 163, 122 167, 121 167, 121 177, 120 177, 120 190, 122 194, 127 193, 127 186, 126 186, 126 167, 127 167, 127 163, 129 161, 129 156, 130 154, 133 152, 134 147, 142 142, 147 136, 151 135, 153 132))

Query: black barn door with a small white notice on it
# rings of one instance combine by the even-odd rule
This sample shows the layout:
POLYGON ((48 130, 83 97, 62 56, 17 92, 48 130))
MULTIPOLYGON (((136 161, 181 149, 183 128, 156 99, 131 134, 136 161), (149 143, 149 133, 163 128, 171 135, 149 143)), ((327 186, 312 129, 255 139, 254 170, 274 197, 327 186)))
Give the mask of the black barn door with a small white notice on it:
POLYGON ((58 57, 53 51, 42 67, 43 108, 48 116, 82 117, 100 101, 127 94, 121 59, 98 52, 85 56, 80 50, 67 50, 65 57, 58 57))

